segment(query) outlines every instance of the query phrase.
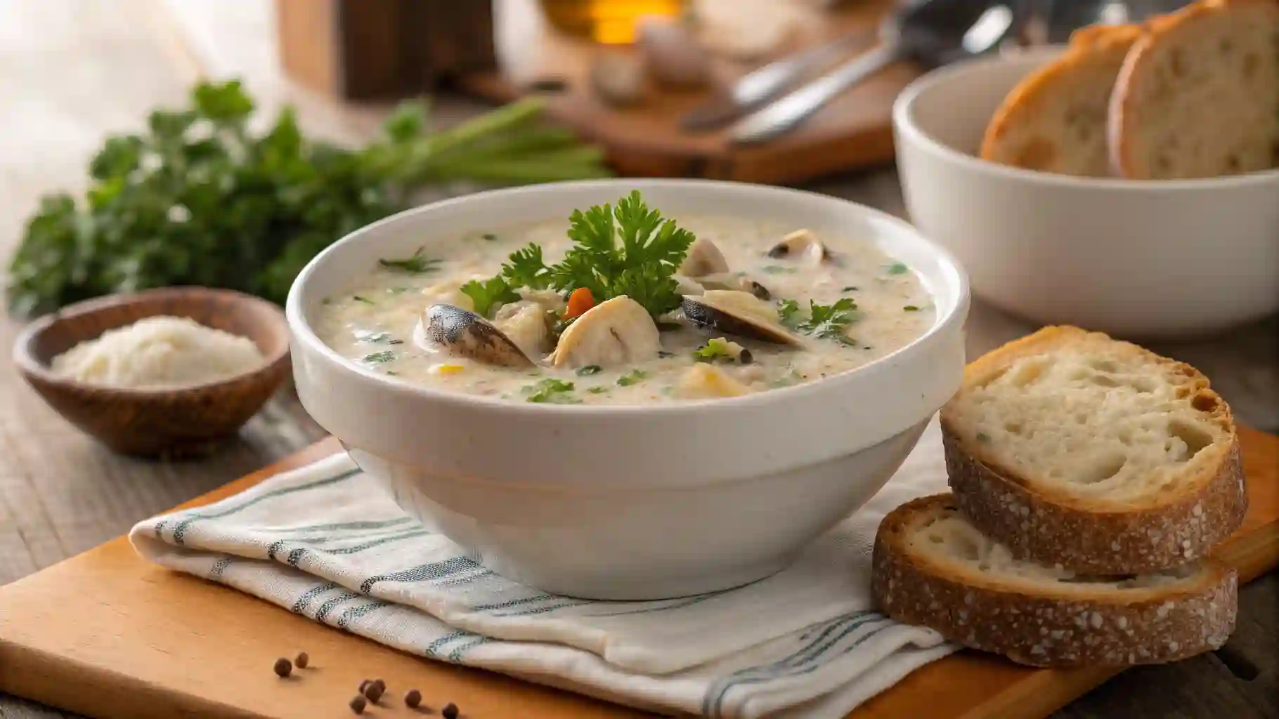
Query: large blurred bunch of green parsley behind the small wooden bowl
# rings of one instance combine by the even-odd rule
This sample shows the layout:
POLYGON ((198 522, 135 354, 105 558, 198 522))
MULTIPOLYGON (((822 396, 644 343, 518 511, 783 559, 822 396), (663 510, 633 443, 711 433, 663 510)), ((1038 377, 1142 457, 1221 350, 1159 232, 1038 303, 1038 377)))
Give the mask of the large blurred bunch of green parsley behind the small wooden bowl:
POLYGON ((597 148, 537 123, 521 101, 430 132, 426 106, 393 112, 362 148, 308 139, 292 110, 263 133, 238 82, 201 83, 90 163, 83 198, 41 201, 10 264, 18 314, 168 285, 230 287, 283 303, 298 271, 347 232, 445 180, 537 183, 608 175, 597 148))

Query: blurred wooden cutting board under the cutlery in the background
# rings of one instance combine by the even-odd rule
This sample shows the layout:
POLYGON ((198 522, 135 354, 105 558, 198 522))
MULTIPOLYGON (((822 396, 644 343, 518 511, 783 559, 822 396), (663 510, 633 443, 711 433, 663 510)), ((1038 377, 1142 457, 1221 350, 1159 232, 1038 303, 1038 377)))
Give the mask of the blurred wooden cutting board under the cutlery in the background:
MULTIPOLYGON (((834 10, 811 0, 773 1, 793 8, 794 31, 781 52, 848 33, 865 36, 865 47, 851 49, 849 56, 875 43, 880 20, 894 4, 858 0, 834 10)), ((697 92, 650 88, 645 102, 636 107, 609 107, 591 92, 587 73, 597 54, 616 49, 547 27, 537 0, 500 0, 496 8, 500 70, 463 78, 462 88, 508 101, 530 91, 535 80, 563 80, 564 92, 546 95, 547 112, 604 146, 622 175, 787 184, 889 162, 893 101, 920 75, 918 68, 898 63, 845 92, 792 133, 760 146, 735 146, 723 130, 688 133, 679 128, 679 117, 709 100, 714 88, 697 92)), ((766 60, 716 59, 718 84, 729 83, 766 60)))

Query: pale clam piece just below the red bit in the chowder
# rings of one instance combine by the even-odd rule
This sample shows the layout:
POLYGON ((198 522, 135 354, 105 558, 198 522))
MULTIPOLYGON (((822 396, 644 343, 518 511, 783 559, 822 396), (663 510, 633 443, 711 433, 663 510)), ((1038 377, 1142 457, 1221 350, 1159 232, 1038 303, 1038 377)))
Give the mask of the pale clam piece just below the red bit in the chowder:
POLYGON ((619 295, 569 324, 549 359, 555 367, 610 367, 651 359, 659 350, 661 337, 648 310, 619 295))

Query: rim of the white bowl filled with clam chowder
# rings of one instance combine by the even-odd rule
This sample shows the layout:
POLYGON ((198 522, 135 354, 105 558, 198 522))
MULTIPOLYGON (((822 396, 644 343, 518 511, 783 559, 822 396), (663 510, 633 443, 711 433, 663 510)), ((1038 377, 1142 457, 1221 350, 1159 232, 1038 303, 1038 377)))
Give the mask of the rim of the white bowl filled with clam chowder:
MULTIPOLYGON (((320 254, 313 257, 311 262, 302 268, 293 285, 289 287, 289 296, 285 300, 284 314, 288 319, 289 328, 293 333, 293 338, 306 345, 308 350, 318 352, 326 361, 330 361, 341 368, 343 372, 349 372, 353 378, 361 382, 372 383, 386 390, 394 390, 398 392, 405 392, 422 397, 423 400, 430 400, 443 405, 457 405, 457 406, 486 406, 491 407, 494 411, 509 411, 509 412, 536 412, 536 414, 595 414, 595 415, 633 415, 633 414, 683 414, 693 411, 730 411, 734 407, 744 407, 760 404, 773 404, 784 400, 801 401, 807 393, 825 392, 830 388, 833 383, 849 382, 853 378, 874 377, 888 372, 890 360, 900 356, 904 352, 917 350, 922 345, 936 341, 936 337, 945 331, 948 331, 955 323, 963 323, 968 314, 968 307, 971 301, 971 291, 968 286, 968 273, 964 271, 959 261, 955 259, 949 250, 934 243, 926 238, 918 229, 913 225, 902 220, 897 216, 889 215, 874 207, 852 202, 844 198, 815 193, 810 190, 799 190, 794 188, 780 188, 774 185, 762 185, 756 183, 737 183, 729 180, 702 180, 702 179, 655 179, 655 178, 610 178, 602 180, 574 180, 574 181, 561 181, 561 183, 544 183, 538 185, 524 185, 518 188, 499 188, 491 190, 483 190, 478 193, 471 193, 455 198, 443 199, 439 202, 432 202, 420 207, 413 207, 390 215, 376 222, 371 222, 354 230, 353 232, 345 235, 338 241, 333 243, 325 248, 320 254), (751 395, 743 395, 739 397, 719 397, 710 400, 679 400, 670 402, 661 402, 654 405, 559 405, 559 404, 544 404, 544 402, 512 402, 509 400, 501 400, 498 397, 490 397, 483 395, 467 395, 463 392, 450 392, 446 390, 436 390, 426 384, 414 384, 403 379, 396 379, 394 377, 388 377, 385 374, 373 372, 368 368, 359 367, 350 361, 348 358, 338 354, 336 350, 326 345, 315 333, 311 323, 306 319, 306 313, 302 307, 302 295, 304 292, 304 285, 308 278, 316 272, 330 254, 338 252, 338 248, 348 244, 359 241, 359 236, 366 232, 376 231, 377 227, 382 225, 389 225, 393 222, 399 222, 404 217, 411 215, 417 215, 422 212, 432 212, 435 208, 460 204, 467 202, 482 202, 485 199, 492 198, 495 195, 515 195, 515 194, 535 194, 535 193, 554 193, 559 192, 558 188, 567 189, 606 189, 618 188, 619 192, 631 192, 632 189, 638 189, 643 192, 646 186, 686 186, 686 188, 698 188, 698 186, 734 186, 741 188, 744 192, 766 192, 766 193, 789 193, 797 195, 815 197, 824 202, 840 202, 857 206, 863 211, 877 217, 880 221, 895 225, 898 230, 904 234, 913 235, 914 239, 929 249, 938 259, 940 259, 941 269, 944 273, 943 281, 950 284, 955 292, 954 305, 945 313, 945 315, 938 317, 932 323, 932 327, 927 332, 920 335, 907 345, 898 347, 897 350, 854 369, 840 372, 830 377, 822 377, 811 382, 803 382, 799 384, 793 384, 790 387, 771 388, 765 392, 753 392, 751 395)), ((297 351, 297 350, 294 350, 297 351)))

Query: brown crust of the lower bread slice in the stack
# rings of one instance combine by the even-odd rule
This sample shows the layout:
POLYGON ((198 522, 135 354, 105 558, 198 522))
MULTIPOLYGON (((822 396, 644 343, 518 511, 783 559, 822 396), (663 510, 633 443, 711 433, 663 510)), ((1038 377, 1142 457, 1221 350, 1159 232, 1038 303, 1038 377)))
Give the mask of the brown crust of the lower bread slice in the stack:
POLYGON ((1157 664, 1220 647, 1234 631, 1238 579, 1207 559, 1177 586, 1054 586, 1033 593, 909 549, 921 515, 955 507, 938 494, 908 502, 880 524, 871 593, 891 618, 934 628, 971 649, 1033 667, 1157 664))

